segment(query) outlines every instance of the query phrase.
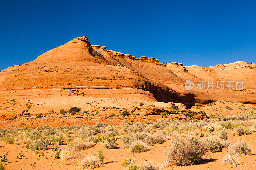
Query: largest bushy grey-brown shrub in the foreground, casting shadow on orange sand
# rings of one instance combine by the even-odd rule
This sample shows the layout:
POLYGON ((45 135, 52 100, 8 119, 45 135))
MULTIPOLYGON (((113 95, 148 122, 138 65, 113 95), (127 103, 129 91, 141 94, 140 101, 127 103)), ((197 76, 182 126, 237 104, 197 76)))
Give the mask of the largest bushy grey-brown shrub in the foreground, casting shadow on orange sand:
POLYGON ((191 165, 208 151, 208 144, 196 137, 176 137, 165 152, 167 159, 176 165, 191 165))

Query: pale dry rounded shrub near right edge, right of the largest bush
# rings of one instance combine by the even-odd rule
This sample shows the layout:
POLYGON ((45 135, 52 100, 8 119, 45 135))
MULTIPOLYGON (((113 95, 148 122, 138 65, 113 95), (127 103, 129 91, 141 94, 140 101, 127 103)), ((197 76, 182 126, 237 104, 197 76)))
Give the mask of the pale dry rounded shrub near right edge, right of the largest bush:
POLYGON ((246 144, 244 141, 238 141, 236 144, 230 144, 231 155, 251 155, 252 147, 246 144))

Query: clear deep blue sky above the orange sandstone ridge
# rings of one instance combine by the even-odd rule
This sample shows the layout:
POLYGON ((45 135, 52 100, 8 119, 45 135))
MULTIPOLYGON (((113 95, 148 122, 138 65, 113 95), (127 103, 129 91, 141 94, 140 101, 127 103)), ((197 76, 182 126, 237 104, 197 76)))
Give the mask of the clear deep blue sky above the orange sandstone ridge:
POLYGON ((0 1, 0 70, 81 36, 161 63, 256 63, 256 1, 0 1))

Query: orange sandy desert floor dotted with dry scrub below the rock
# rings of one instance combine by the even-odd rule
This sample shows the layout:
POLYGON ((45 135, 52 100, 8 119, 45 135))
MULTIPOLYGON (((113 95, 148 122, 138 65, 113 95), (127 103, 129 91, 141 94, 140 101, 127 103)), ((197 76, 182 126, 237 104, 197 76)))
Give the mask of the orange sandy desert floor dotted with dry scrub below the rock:
POLYGON ((104 152, 105 159, 103 164, 95 164, 96 169, 123 169, 121 164, 124 158, 135 159, 134 164, 137 166, 154 161, 163 169, 254 169, 256 164, 255 109, 255 105, 251 104, 216 101, 215 104, 190 109, 206 112, 211 117, 209 119, 169 119, 168 117, 171 118, 172 114, 164 113, 165 115, 157 115, 158 117, 145 115, 146 118, 139 119, 139 122, 134 115, 111 115, 107 119, 100 119, 104 115, 96 113, 93 116, 89 112, 74 115, 54 112, 43 115, 42 118, 20 116, 0 122, 2 128, 0 156, 9 153, 6 157, 8 161, 3 162, 6 169, 89 169, 90 166, 84 167, 81 164, 83 157, 92 155, 97 158, 99 150, 104 152), (58 123, 52 122, 61 123, 57 126, 58 123), (207 129, 213 126, 213 131, 207 129), (244 130, 242 135, 238 135, 239 128, 244 130), (227 132, 225 137, 223 137, 223 131, 227 132), (165 152, 177 136, 195 136, 200 140, 206 140, 210 146, 215 147, 214 151, 207 151, 202 159, 194 162, 193 165, 180 166, 170 163, 165 152), (111 144, 109 146, 104 143, 105 138, 112 140, 113 149, 106 148, 111 144), (159 141, 152 143, 155 138, 159 141), (60 139, 63 140, 64 145, 59 145, 60 139), (132 144, 127 144, 127 139, 132 142, 142 140, 145 151, 142 149, 141 153, 135 153, 136 150, 132 150, 132 144), (217 143, 209 142, 211 139, 216 139, 217 143), (52 144, 48 141, 48 145, 47 140, 51 140, 52 144), (223 157, 232 152, 231 145, 240 140, 248 144, 252 151, 245 155, 242 153, 237 155, 236 159, 239 161, 237 165, 223 164, 223 157), (33 141, 41 141, 40 146, 45 144, 44 148, 35 150, 31 145, 33 141), (53 151, 54 145, 60 151, 53 151), (21 151, 24 158, 16 159, 21 151), (55 159, 57 152, 61 154, 64 151, 68 152, 66 158, 55 159))

